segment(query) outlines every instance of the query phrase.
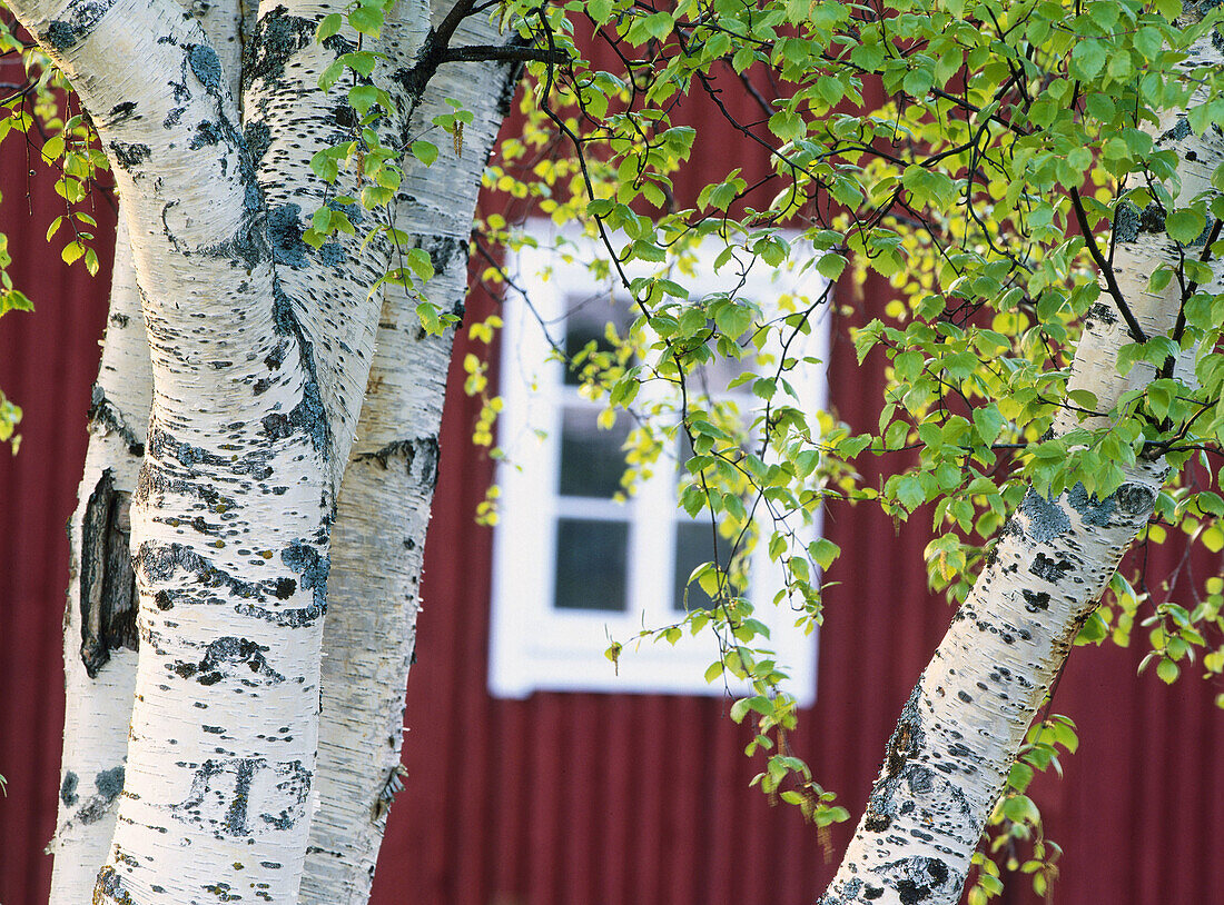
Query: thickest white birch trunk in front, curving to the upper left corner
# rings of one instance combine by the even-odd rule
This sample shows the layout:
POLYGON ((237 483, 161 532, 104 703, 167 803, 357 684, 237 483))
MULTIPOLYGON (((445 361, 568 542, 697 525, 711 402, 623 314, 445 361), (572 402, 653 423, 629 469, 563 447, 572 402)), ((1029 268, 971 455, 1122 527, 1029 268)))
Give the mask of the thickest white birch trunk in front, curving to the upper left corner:
POLYGON ((13 6, 115 165, 154 373, 131 526, 136 709, 93 900, 289 903, 308 832, 334 462, 348 449, 198 26, 168 2, 13 6))

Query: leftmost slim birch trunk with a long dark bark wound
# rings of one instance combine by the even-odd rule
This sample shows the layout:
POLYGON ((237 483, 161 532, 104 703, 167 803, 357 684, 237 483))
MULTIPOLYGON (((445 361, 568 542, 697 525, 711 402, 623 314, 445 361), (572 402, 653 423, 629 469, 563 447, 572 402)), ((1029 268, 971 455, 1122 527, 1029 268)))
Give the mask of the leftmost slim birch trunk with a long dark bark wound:
MULTIPOLYGON (((195 15, 218 49, 236 94, 241 56, 237 4, 195 15)), ((127 225, 119 219, 110 309, 89 408, 89 446, 77 509, 64 618, 64 748, 50 905, 93 892, 115 829, 136 685, 136 587, 129 506, 144 456, 153 373, 127 225)))

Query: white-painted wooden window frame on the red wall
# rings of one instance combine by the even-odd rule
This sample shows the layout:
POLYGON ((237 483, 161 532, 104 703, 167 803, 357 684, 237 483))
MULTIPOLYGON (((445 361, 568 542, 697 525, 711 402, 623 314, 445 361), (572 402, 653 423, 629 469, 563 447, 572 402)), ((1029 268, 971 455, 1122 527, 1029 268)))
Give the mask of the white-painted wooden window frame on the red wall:
MULTIPOLYGON (((730 675, 705 681, 706 668, 718 656, 717 641, 710 631, 695 637, 685 632, 674 646, 650 640, 625 643, 616 665, 605 656, 610 640, 627 642, 636 638, 643 627, 671 625, 683 616, 672 609, 671 599, 674 525, 679 511, 676 482, 672 470, 661 462, 655 476, 643 482, 628 503, 559 498, 562 404, 572 402, 575 388, 564 384, 562 362, 547 361, 551 346, 540 320, 563 323, 565 298, 591 295, 597 286, 592 285, 585 267, 567 264, 552 251, 554 240, 548 238, 548 226, 537 227, 534 235, 540 236, 541 247, 520 252, 514 270, 535 312, 518 294, 508 292, 502 313, 501 395, 504 407, 498 416, 498 445, 507 450, 508 462, 499 464, 496 478, 501 495, 493 536, 490 692, 499 698, 525 698, 535 691, 748 693, 748 687, 730 675), (547 279, 540 275, 545 272, 547 279), (624 511, 621 506, 635 510, 627 517, 627 610, 558 610, 552 605, 556 520, 599 517, 591 514, 607 506, 617 506, 621 512, 624 511), (643 530, 641 526, 647 525, 650 528, 643 530)), ((712 247, 712 242, 706 246, 712 247)), ((730 272, 734 263, 725 268, 722 278, 714 273, 711 264, 716 254, 717 251, 698 254, 698 274, 689 281, 694 295, 725 290, 732 280, 730 272)), ((758 262, 749 270, 739 295, 767 300, 794 291, 800 284, 807 284, 804 294, 812 298, 825 289, 823 278, 810 268, 796 278, 787 273, 775 275, 758 262)), ((804 338, 800 352, 821 362, 827 361, 827 317, 823 317, 827 309, 829 306, 824 306, 821 316, 814 318, 813 330, 804 338)), ((794 355, 796 350, 792 347, 789 353, 794 355)), ((815 412, 825 406, 824 366, 804 366, 802 373, 789 377, 805 411, 815 412)), ((687 517, 683 512, 681 516, 687 517)), ((820 527, 821 516, 816 512, 809 528, 812 537, 819 534, 820 527)), ((767 538, 770 531, 772 526, 763 520, 763 537, 767 538)), ((749 575, 754 618, 770 626, 770 638, 765 643, 789 671, 785 687, 800 706, 810 706, 816 693, 816 635, 804 635, 797 629, 797 614, 785 604, 772 604, 785 577, 781 565, 770 561, 765 543, 759 543, 753 552, 749 575)))

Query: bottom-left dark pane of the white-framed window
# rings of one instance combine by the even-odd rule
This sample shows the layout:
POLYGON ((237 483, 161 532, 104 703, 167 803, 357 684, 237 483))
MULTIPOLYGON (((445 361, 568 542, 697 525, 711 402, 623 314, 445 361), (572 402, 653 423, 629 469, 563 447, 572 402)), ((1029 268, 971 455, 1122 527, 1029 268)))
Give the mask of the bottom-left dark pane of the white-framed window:
POLYGON ((625 522, 557 520, 557 609, 625 610, 625 522))

